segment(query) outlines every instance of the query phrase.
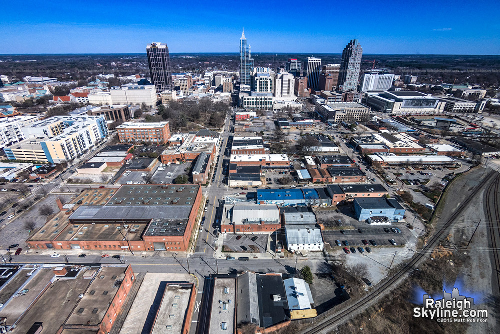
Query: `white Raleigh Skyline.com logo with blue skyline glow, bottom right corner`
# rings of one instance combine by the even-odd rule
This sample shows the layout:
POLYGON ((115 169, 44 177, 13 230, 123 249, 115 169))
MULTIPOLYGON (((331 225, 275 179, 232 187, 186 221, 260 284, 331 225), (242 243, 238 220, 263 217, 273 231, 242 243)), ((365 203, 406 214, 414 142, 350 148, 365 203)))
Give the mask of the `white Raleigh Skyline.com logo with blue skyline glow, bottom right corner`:
POLYGON ((441 299, 424 294, 422 306, 413 308, 413 316, 437 322, 488 322, 488 310, 473 309, 473 306, 474 298, 461 296, 455 287, 451 293, 443 290, 441 299))

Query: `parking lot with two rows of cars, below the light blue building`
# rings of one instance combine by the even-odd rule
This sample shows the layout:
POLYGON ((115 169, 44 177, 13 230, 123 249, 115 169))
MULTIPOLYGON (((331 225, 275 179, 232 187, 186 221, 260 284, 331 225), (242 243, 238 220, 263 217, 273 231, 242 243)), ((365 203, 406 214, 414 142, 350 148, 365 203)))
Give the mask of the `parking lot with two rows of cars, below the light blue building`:
MULTIPOLYGON (((407 243, 407 237, 404 233, 394 233, 391 230, 392 226, 387 225, 385 227, 369 227, 363 228, 363 233, 359 233, 357 229, 355 230, 344 230, 342 233, 340 230, 325 230, 323 231, 323 239, 325 242, 328 242, 331 247, 338 247, 336 244, 336 240, 339 240, 341 243, 340 247, 365 247, 369 246, 371 249, 374 249, 379 246, 393 246, 389 240, 394 239, 398 245, 404 245, 407 243), (386 232, 384 228, 389 231, 386 232), (373 244, 369 243, 365 245, 361 240, 366 240, 369 243, 369 240, 374 240, 377 246, 373 246, 373 244), (348 245, 345 244, 347 241, 348 245)), ((400 228, 400 227, 397 227, 400 228)), ((402 231, 401 231, 402 232, 402 231)))

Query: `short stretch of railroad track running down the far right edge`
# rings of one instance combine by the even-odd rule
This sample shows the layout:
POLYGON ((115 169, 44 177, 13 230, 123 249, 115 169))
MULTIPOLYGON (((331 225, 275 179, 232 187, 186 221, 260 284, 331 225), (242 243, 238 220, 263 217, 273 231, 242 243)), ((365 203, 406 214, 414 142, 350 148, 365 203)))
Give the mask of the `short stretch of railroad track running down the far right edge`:
MULTIPOLYGON (((491 287, 493 293, 498 295, 500 292, 500 253, 498 243, 500 242, 500 200, 498 190, 500 189, 500 179, 492 182, 486 192, 486 218, 489 226, 489 240, 491 241, 491 250, 493 252, 493 277, 491 287), (496 290, 496 291, 495 291, 496 290), (495 293, 496 292, 496 293, 495 293)), ((497 320, 497 323, 500 320, 497 320)))

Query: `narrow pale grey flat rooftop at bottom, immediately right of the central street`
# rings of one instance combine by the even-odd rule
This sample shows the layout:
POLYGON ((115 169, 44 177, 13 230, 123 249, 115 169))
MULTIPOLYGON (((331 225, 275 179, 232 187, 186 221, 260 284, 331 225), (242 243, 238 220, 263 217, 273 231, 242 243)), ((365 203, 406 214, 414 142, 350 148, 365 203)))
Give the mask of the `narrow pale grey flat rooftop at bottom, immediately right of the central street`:
POLYGON ((235 333, 236 279, 215 278, 210 312, 209 333, 235 333), (219 302, 222 301, 222 303, 219 302), (231 301, 229 303, 229 300, 231 301), (222 329, 225 323, 226 330, 222 329))

